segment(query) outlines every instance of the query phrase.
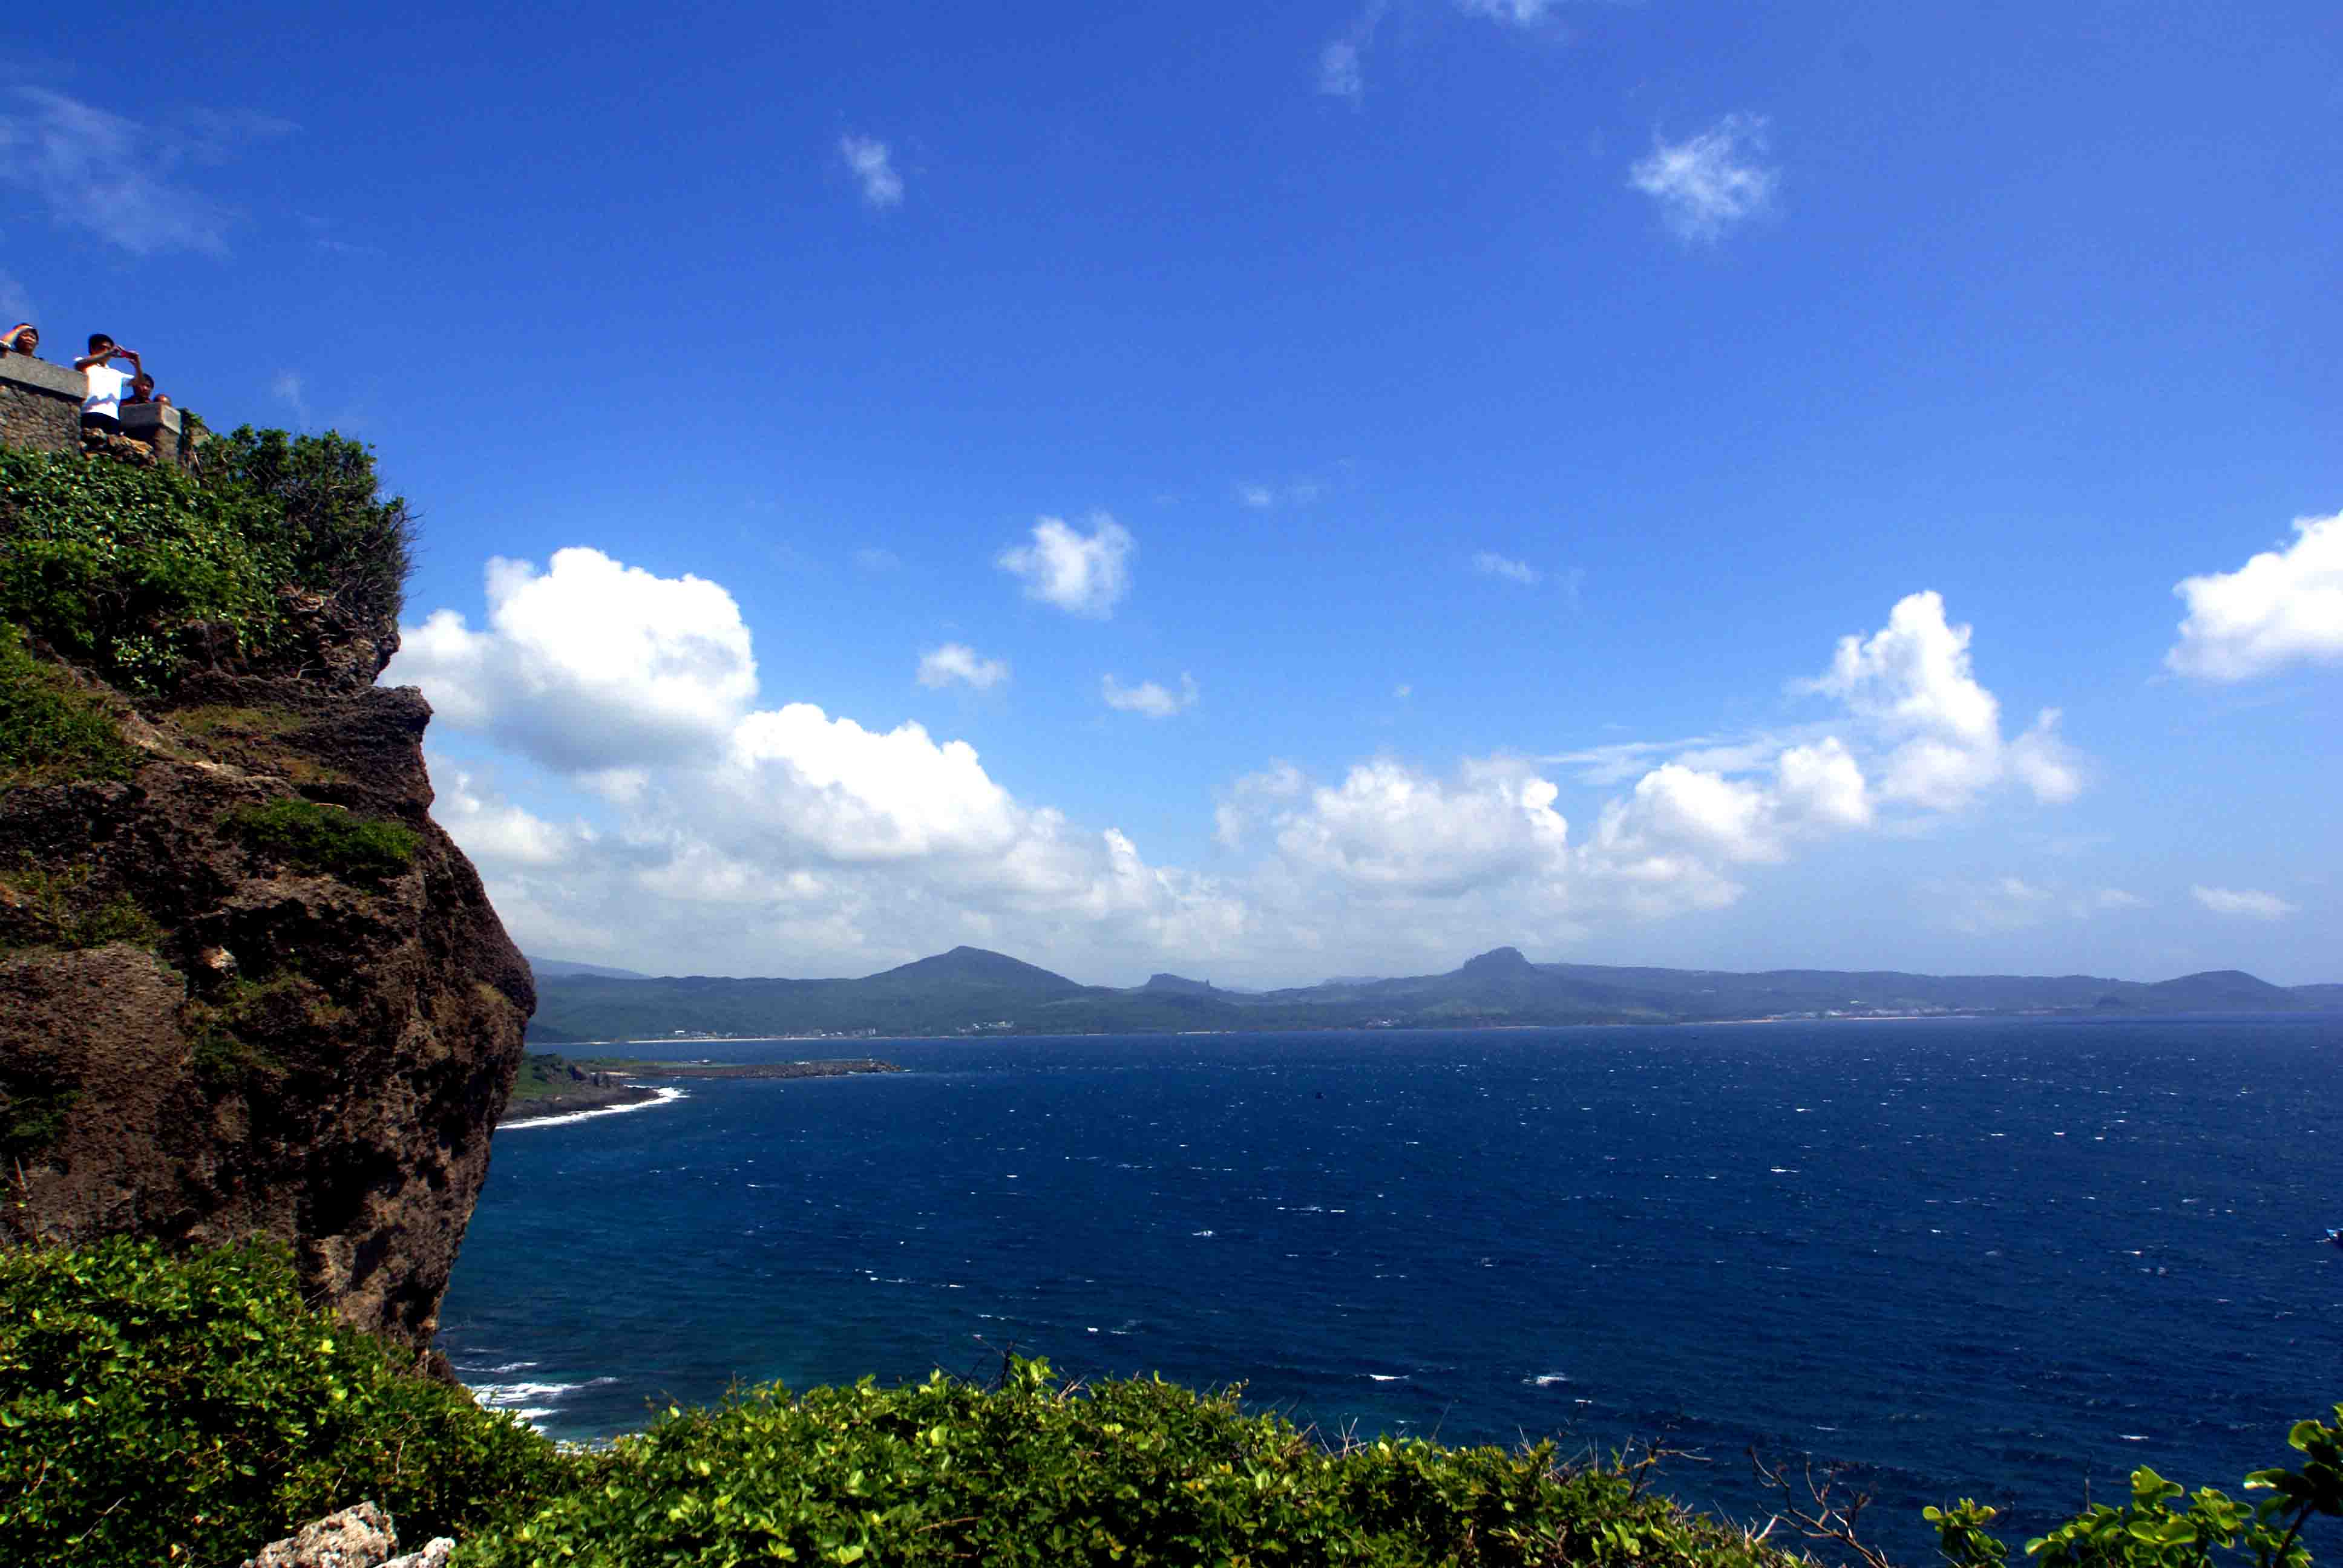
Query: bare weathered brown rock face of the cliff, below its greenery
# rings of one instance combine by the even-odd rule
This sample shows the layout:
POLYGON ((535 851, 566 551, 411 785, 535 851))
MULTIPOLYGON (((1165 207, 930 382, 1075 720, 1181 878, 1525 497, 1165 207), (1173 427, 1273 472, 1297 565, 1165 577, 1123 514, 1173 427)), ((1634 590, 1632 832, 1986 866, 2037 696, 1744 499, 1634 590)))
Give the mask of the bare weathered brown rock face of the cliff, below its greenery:
POLYGON ((429 705, 366 684, 387 649, 333 652, 136 713, 91 687, 131 778, 0 790, 0 1228, 276 1235, 347 1322, 422 1348, 537 994, 429 818, 429 705), (272 802, 391 825, 389 858, 255 827, 272 802))

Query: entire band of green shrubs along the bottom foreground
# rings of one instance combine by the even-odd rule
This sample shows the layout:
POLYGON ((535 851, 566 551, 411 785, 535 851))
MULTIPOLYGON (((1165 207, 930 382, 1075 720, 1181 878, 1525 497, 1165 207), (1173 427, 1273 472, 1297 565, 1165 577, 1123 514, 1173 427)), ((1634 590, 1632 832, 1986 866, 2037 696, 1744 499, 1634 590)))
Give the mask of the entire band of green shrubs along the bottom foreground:
MULTIPOLYGON (((1797 1561, 1654 1495, 1642 1465, 1558 1465, 1551 1444, 1328 1448, 1237 1390, 1066 1388, 1045 1362, 1010 1359, 996 1388, 745 1390, 565 1453, 401 1359, 305 1305, 269 1245, 0 1252, 0 1561, 232 1563, 361 1498, 410 1545, 459 1535, 462 1568, 1797 1561)), ((2130 1505, 2027 1554, 2308 1568, 2303 1526, 2343 1516, 2343 1430, 2306 1420, 2289 1441, 2298 1467, 2247 1477, 2259 1507, 2142 1470, 2130 1505)), ((1928 1516, 1954 1568, 2006 1563, 1994 1509, 1928 1516)))

